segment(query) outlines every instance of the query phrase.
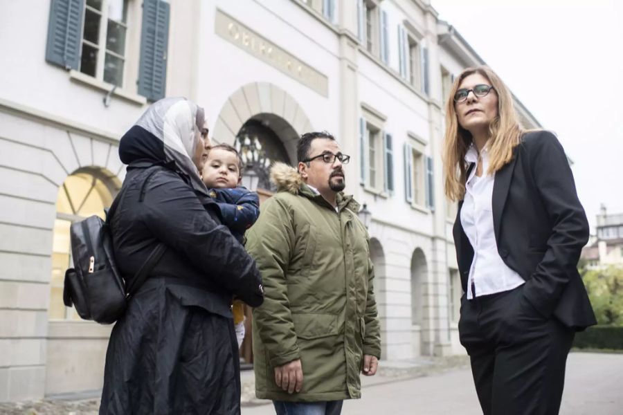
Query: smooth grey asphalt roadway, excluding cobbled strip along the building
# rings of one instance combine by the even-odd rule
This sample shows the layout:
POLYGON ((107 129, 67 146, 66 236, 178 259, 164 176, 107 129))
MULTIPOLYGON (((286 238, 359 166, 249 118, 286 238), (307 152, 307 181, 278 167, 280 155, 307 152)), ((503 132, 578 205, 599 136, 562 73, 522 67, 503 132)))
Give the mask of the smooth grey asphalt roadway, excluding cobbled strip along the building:
MULTIPOLYGON (((420 378, 364 379, 363 398, 347 400, 343 415, 480 415, 469 369, 420 378)), ((274 414, 272 405, 242 415, 274 414)), ((623 354, 571 353, 561 415, 623 415, 623 354)))

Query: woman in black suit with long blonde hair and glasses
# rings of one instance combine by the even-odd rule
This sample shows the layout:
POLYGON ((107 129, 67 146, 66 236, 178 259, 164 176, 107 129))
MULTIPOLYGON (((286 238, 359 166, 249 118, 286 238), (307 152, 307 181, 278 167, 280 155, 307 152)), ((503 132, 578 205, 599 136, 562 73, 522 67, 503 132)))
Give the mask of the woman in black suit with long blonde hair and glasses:
POLYGON ((559 412, 575 331, 596 324, 577 272, 588 241, 565 152, 525 131, 486 66, 455 80, 446 106, 445 193, 463 291, 459 335, 485 414, 559 412))

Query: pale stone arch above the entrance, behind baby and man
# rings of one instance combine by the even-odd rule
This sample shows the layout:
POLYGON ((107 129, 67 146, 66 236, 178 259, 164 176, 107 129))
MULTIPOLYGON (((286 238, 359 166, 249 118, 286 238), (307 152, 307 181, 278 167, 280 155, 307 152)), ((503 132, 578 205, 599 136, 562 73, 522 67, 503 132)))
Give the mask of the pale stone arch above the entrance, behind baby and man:
POLYGON ((232 145, 238 131, 249 120, 270 124, 291 160, 296 160, 298 136, 312 130, 303 107, 289 93, 269 82, 252 82, 232 93, 215 120, 213 137, 232 145))

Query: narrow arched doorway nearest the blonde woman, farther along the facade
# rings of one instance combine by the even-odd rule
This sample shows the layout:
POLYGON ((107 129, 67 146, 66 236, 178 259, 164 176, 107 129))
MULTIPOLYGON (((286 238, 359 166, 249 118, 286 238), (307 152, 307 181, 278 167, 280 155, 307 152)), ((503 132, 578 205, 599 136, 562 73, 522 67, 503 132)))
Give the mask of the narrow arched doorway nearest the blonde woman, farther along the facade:
POLYGON ((416 248, 411 256, 411 333, 413 356, 428 354, 424 344, 426 340, 426 318, 424 316, 424 284, 428 266, 426 255, 416 248))

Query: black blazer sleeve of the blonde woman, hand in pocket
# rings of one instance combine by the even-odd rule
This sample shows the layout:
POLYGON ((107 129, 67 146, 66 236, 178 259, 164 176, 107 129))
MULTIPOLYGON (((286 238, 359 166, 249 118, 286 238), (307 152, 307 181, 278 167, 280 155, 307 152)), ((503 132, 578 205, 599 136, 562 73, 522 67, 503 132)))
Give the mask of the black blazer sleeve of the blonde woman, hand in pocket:
POLYGON ((547 250, 532 278, 523 288, 525 297, 543 316, 558 304, 569 278, 577 269, 582 248, 588 241, 588 221, 577 197, 573 174, 558 139, 547 131, 529 143, 534 184, 549 216, 552 232, 547 250))

